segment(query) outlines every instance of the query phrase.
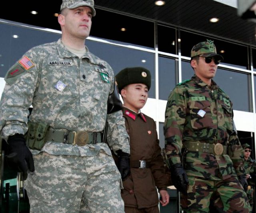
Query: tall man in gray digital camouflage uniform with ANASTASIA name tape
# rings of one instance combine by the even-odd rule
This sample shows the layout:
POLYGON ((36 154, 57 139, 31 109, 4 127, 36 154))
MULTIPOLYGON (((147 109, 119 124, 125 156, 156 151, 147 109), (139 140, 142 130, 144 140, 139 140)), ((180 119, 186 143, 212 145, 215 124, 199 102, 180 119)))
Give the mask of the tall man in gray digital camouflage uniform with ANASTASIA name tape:
POLYGON ((60 10, 61 39, 30 49, 6 74, 0 132, 8 163, 28 171, 31 212, 122 213, 129 136, 114 72, 85 46, 94 1, 63 0, 60 10))

